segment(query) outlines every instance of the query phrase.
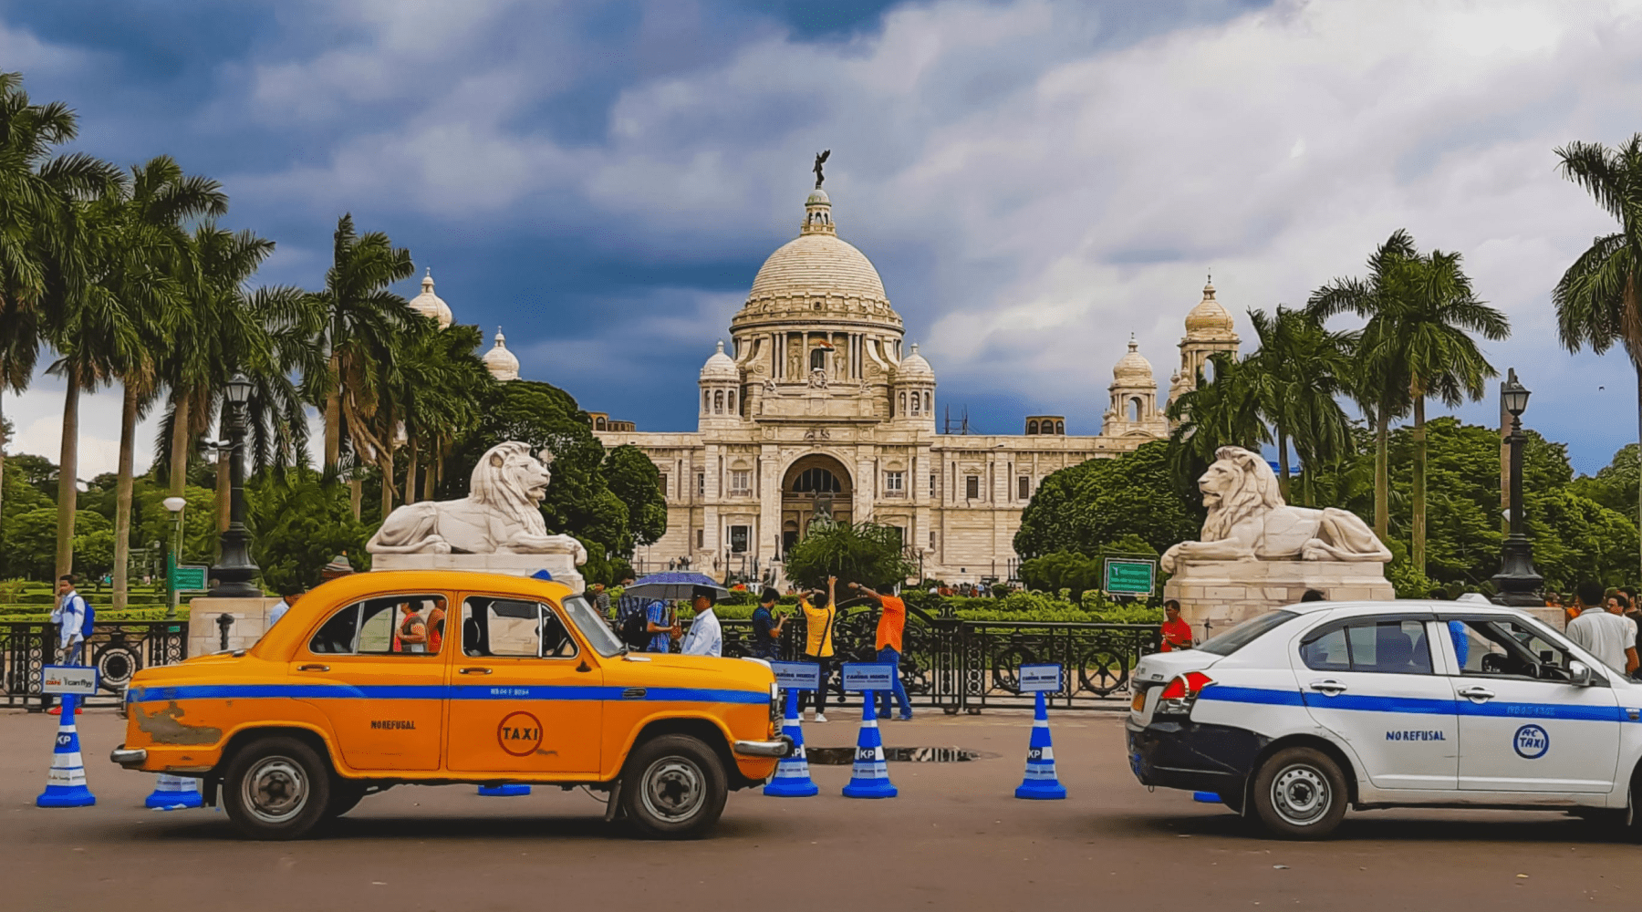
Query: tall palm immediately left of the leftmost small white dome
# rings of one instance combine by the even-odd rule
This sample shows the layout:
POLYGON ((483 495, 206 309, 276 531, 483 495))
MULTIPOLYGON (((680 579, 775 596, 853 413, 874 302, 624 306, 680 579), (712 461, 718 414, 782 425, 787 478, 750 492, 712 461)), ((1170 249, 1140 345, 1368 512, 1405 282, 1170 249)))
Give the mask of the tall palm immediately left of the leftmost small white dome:
MULTIPOLYGON (((392 453, 376 433, 371 420, 376 417, 383 369, 392 363, 392 353, 401 336, 412 331, 415 313, 406 300, 388 290, 415 271, 410 251, 394 248, 388 235, 369 231, 360 235, 353 215, 337 221, 332 266, 325 271, 325 289, 312 292, 317 307, 325 312, 325 326, 319 333, 319 348, 325 353, 327 369, 304 377, 309 402, 325 412, 325 461, 327 474, 335 474, 342 463, 343 425, 355 451, 355 463, 366 454, 392 453)), ((389 436, 389 441, 392 438, 389 436)), ((358 471, 358 469, 355 469, 358 471)), ((388 472, 384 484, 392 484, 388 472)), ((358 479, 355 479, 358 492, 358 479)), ((355 504, 358 497, 355 495, 355 504)))

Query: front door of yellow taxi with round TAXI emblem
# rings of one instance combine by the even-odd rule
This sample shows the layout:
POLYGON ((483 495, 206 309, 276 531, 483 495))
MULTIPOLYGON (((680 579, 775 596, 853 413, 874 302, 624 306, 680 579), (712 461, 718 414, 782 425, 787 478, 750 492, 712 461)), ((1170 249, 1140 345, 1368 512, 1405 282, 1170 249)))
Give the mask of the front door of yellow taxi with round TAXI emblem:
POLYGON ((558 609, 475 592, 453 617, 450 771, 596 774, 604 674, 558 609))

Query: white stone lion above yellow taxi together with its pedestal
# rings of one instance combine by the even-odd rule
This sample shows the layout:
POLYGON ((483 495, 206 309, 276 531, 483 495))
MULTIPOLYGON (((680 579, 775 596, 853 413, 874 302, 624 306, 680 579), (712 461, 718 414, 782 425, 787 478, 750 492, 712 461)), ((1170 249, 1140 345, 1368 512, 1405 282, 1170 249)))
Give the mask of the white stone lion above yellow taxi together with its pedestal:
POLYGON ((542 497, 552 474, 524 443, 493 446, 473 467, 461 500, 406 504, 365 545, 371 569, 465 569, 530 576, 545 569, 557 582, 581 591, 576 568, 588 551, 568 535, 548 535, 542 497))

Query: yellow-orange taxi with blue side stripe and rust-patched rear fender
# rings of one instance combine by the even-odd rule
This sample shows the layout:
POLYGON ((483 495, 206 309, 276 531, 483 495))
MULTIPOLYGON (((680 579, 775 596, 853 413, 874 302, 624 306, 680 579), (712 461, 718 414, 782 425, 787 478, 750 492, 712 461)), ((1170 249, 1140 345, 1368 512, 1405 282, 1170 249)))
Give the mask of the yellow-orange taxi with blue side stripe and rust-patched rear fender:
POLYGON ((253 838, 399 784, 550 782, 640 835, 704 835, 791 751, 762 663, 631 653, 560 582, 386 571, 305 594, 255 646, 146 668, 128 769, 204 779, 253 838))

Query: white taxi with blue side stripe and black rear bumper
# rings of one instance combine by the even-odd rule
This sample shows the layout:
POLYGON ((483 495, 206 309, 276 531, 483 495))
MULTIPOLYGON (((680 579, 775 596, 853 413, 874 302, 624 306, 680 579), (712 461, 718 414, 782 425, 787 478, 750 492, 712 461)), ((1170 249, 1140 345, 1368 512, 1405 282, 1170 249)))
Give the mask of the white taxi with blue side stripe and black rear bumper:
POLYGON ((1346 809, 1566 810, 1631 822, 1642 684, 1524 612, 1309 602, 1135 668, 1130 766, 1271 833, 1346 809))

